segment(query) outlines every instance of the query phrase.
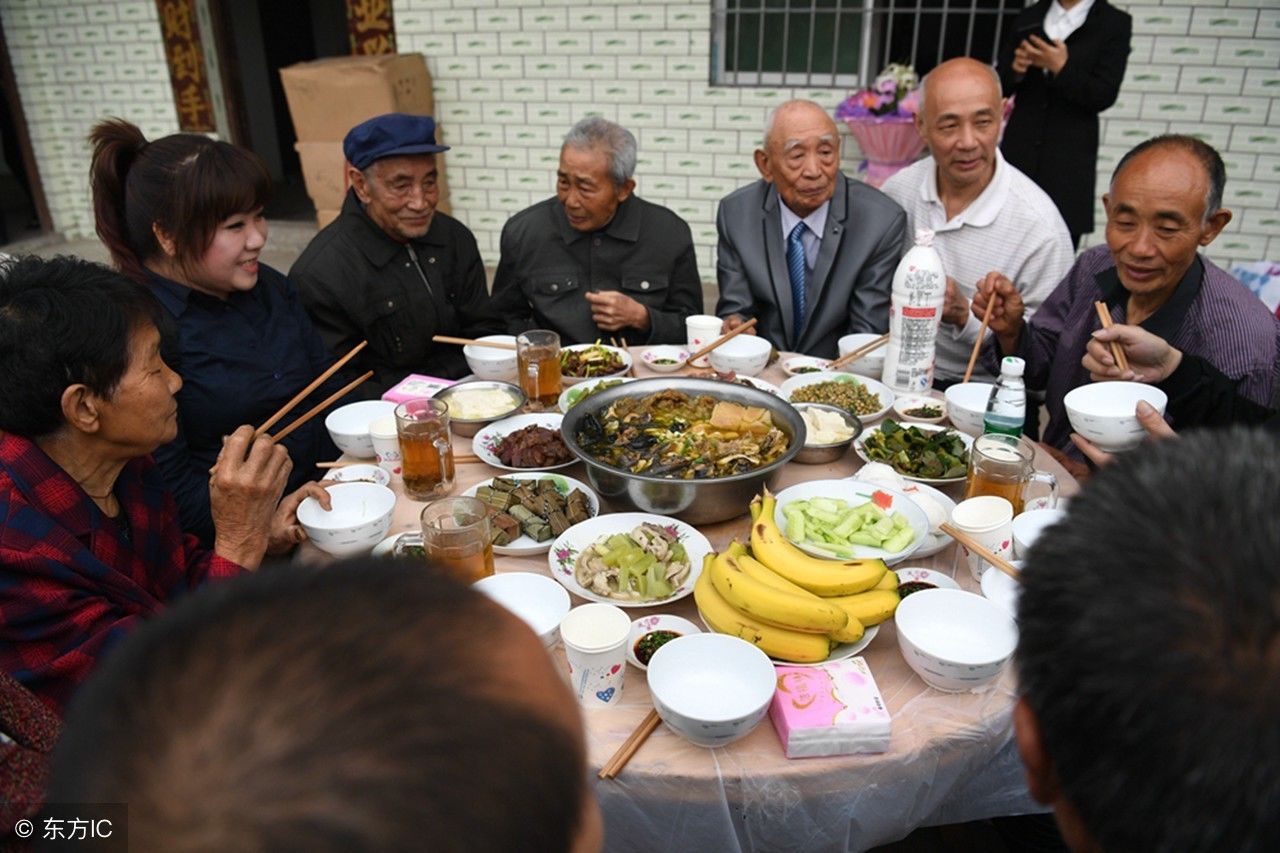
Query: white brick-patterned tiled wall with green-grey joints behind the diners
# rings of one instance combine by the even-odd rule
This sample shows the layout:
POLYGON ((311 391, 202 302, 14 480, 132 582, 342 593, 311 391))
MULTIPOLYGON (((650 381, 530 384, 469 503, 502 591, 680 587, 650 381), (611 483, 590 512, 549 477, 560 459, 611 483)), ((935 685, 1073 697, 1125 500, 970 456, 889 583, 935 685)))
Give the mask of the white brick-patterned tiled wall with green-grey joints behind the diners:
MULTIPOLYGON (((265 0, 264 0, 265 1, 265 0)), ((1235 220, 1219 263, 1280 259, 1280 0, 1129 0, 1133 53, 1103 115, 1097 193, 1116 159, 1167 131, 1198 133, 1228 163, 1235 220)), ((755 178, 769 106, 828 109, 844 90, 712 87, 710 3, 393 0, 402 50, 426 55, 454 213, 498 260, 507 216, 553 192, 559 140, 588 113, 640 141, 639 192, 689 220, 714 275, 716 201, 755 178)), ((104 114, 175 129, 150 0, 0 0, 55 225, 92 231, 84 133, 104 114)), ((846 133, 845 168, 860 155, 846 133)), ((1098 211, 1101 223, 1101 210, 1098 211)), ((1094 234, 1093 240, 1100 240, 1094 234)))

